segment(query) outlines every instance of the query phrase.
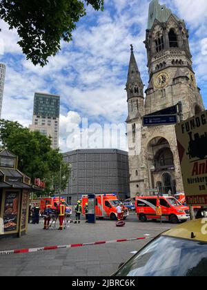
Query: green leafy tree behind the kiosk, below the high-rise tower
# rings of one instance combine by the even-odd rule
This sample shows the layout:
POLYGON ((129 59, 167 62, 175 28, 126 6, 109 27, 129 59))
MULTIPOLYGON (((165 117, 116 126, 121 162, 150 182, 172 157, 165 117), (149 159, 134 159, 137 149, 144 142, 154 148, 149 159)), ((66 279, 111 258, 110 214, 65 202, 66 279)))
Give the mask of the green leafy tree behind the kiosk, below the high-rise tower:
MULTIPOLYGON (((60 174, 60 168, 65 168, 63 156, 58 150, 51 148, 51 140, 39 133, 31 132, 23 128, 17 122, 0 120, 1 147, 7 148, 19 158, 18 168, 24 174, 46 181, 46 190, 50 192, 52 186, 52 175, 60 174)), ((61 173, 61 176, 65 171, 61 173)), ((68 181, 68 175, 66 182, 68 181)))

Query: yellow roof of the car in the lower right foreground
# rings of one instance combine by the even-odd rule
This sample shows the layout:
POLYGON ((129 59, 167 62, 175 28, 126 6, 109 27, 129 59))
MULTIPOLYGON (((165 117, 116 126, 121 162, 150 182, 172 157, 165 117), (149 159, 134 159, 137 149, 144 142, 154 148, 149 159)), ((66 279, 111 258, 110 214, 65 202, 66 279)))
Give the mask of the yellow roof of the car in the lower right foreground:
POLYGON ((207 242, 207 233, 205 234, 207 230, 206 222, 207 220, 204 218, 185 222, 184 224, 180 224, 170 231, 162 233, 162 235, 167 235, 172 238, 183 238, 188 240, 207 242), (195 238, 192 237, 192 233, 195 238))

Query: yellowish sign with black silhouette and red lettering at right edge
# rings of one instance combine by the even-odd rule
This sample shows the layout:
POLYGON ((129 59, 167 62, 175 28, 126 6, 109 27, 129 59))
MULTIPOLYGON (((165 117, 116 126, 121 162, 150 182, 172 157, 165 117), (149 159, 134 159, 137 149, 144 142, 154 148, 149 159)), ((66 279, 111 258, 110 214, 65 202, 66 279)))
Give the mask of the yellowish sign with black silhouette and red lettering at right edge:
POLYGON ((189 205, 207 205, 207 110, 175 126, 189 205))

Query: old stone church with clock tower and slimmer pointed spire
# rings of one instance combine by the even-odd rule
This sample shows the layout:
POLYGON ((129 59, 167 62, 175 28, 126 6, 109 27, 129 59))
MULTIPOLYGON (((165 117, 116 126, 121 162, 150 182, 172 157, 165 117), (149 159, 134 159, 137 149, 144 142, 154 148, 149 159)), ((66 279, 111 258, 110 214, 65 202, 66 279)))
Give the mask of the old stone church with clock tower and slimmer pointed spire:
POLYGON ((184 191, 175 126, 142 125, 142 117, 181 101, 183 118, 204 110, 190 54, 189 32, 166 5, 149 7, 146 45, 149 84, 145 90, 131 46, 126 91, 131 197, 184 191))

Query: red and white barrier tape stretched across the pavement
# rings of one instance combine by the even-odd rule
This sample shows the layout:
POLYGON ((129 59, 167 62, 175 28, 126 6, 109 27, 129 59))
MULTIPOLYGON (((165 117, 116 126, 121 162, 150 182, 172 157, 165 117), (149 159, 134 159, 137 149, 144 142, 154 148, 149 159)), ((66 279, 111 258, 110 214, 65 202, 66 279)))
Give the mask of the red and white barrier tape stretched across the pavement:
POLYGON ((99 242, 87 242, 84 244, 68 244, 66 246, 52 246, 52 247, 43 247, 43 248, 34 248, 34 249, 17 249, 11 251, 0 251, 0 255, 12 255, 17 253, 37 253, 42 251, 51 251, 51 250, 58 250, 58 249, 69 249, 69 248, 77 248, 77 247, 84 247, 84 246, 93 246, 98 244, 112 244, 115 242, 130 242, 135 240, 146 240, 152 237, 144 237, 144 238, 131 238, 131 239, 121 239, 121 240, 111 240, 111 241, 99 241, 99 242))

